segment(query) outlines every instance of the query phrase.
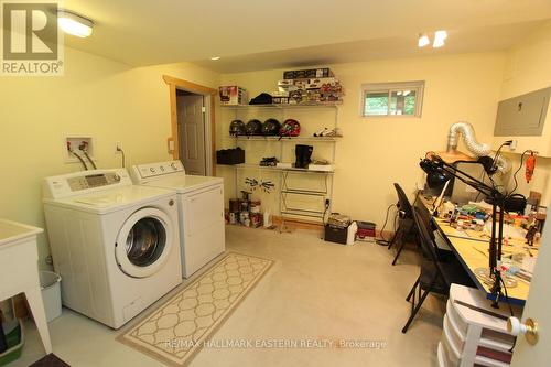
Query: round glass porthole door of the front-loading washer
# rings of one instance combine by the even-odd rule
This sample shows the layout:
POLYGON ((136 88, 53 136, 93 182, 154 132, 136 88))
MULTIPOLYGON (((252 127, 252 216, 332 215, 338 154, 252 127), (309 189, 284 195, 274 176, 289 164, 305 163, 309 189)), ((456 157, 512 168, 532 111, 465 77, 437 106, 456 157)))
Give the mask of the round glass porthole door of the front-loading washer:
POLYGON ((115 246, 120 270, 134 278, 158 272, 172 251, 173 230, 169 216, 159 209, 134 212, 125 222, 115 246))

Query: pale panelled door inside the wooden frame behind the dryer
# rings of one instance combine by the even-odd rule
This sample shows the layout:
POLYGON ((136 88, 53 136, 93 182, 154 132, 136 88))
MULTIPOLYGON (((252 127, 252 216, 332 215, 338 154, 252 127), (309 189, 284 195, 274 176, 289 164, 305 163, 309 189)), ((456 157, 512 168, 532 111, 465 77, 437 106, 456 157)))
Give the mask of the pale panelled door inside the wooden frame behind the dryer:
POLYGON ((206 175, 204 97, 177 96, 180 159, 187 174, 206 175))

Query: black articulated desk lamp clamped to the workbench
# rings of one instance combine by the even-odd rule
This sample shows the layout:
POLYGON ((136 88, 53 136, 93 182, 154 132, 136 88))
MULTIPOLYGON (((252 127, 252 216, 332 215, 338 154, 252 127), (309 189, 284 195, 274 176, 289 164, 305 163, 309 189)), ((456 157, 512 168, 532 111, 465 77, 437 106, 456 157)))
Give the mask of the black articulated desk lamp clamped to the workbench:
MULTIPOLYGON (((489 241, 489 274, 494 279, 494 284, 491 287, 494 302, 491 303, 491 306, 497 309, 499 298, 501 296, 503 280, 498 265, 501 261, 504 213, 507 195, 501 194, 497 188, 445 162, 440 155, 428 154, 426 158, 419 163, 419 165, 426 173, 426 184, 431 188, 442 187, 450 179, 455 177, 488 197, 493 212, 491 237, 489 241)), ((490 172, 491 170, 489 166, 485 164, 483 165, 488 174, 493 174, 495 172, 490 172)))

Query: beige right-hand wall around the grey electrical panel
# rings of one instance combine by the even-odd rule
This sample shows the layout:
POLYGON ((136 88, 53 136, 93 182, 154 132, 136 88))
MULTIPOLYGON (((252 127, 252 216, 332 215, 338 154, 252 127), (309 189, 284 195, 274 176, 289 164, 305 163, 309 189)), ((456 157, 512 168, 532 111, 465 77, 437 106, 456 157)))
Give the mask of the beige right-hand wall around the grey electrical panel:
MULTIPOLYGON (((507 99, 532 90, 551 86, 551 22, 507 52, 504 83, 500 99, 507 99)), ((549 119, 545 123, 551 123, 549 119)), ((549 129, 547 129, 549 131, 549 129)), ((525 147, 530 148, 528 144, 525 147)), ((518 153, 521 153, 519 151, 518 153)), ((519 154, 508 154, 514 170, 520 163, 519 154)), ((528 194, 530 190, 543 194, 544 205, 551 202, 551 158, 538 158, 533 181, 527 184, 525 169, 518 174, 519 192, 528 194)))

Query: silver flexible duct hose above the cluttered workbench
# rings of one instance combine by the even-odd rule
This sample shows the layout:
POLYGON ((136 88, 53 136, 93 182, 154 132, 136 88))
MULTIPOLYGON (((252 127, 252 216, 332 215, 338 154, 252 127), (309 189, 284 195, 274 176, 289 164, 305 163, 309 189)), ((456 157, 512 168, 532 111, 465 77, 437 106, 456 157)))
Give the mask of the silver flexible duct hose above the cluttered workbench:
MULTIPOLYGON (((479 143, 476 140, 475 129, 466 121, 458 121, 450 127, 450 133, 447 134, 447 153, 457 151, 460 133, 463 136, 463 140, 468 151, 475 156, 489 156, 491 154, 491 147, 489 144, 479 143)), ((509 162, 501 155, 497 158, 496 166, 501 173, 507 173, 510 169, 509 162)))

